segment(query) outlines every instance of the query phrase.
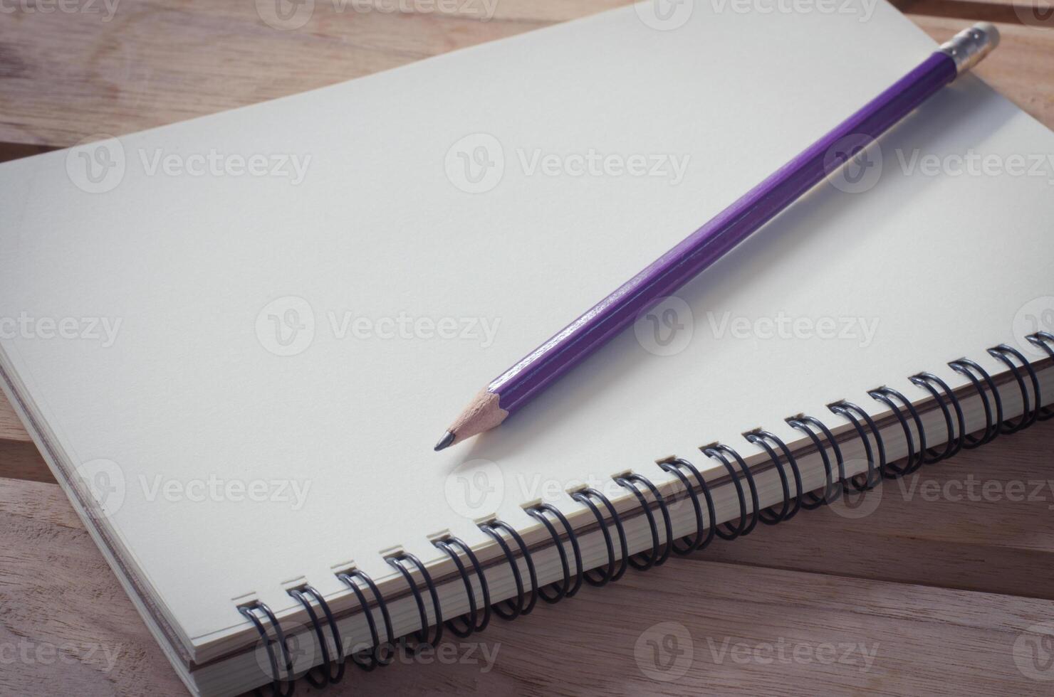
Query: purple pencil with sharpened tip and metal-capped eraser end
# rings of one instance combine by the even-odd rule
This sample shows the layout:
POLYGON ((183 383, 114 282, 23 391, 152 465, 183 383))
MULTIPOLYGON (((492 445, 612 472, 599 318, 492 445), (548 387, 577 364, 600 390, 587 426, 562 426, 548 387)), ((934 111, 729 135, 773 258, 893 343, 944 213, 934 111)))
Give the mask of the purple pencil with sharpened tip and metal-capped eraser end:
POLYGON ((460 443, 505 421, 632 324, 641 313, 695 278, 855 155, 842 155, 833 163, 829 154, 836 145, 846 140, 866 144, 878 138, 976 65, 998 43, 995 26, 978 22, 942 44, 863 108, 491 381, 447 429, 435 450, 460 443))

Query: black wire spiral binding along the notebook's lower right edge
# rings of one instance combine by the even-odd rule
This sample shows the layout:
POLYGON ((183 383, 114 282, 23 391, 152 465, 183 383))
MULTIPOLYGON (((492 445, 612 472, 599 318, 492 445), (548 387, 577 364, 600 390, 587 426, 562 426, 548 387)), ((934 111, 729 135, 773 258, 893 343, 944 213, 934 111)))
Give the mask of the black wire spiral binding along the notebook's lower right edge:
MULTIPOLYGON (((1026 338, 1032 344, 1045 351, 1048 357, 1054 359, 1054 334, 1037 332, 1026 338)), ((913 384, 925 391, 934 399, 937 409, 940 410, 944 418, 948 438, 943 449, 929 447, 926 445, 925 429, 918 410, 912 404, 911 399, 887 386, 872 390, 867 394, 872 399, 887 406, 903 430, 907 453, 902 459, 896 462, 886 461, 886 449, 878 424, 863 409, 846 400, 835 402, 828 406, 832 413, 842 416, 853 425, 863 444, 867 459, 867 470, 852 477, 846 477, 842 450, 838 444, 838 439, 829 427, 819 419, 806 415, 798 415, 786 419, 787 425, 801 431, 807 436, 820 455, 825 472, 825 479, 824 484, 816 491, 802 491, 802 479, 798 462, 789 447, 780 438, 768 431, 760 429, 744 434, 747 441, 758 445, 769 456, 780 477, 783 500, 763 510, 759 505, 758 489, 754 480, 754 475, 739 453, 735 449, 720 443, 702 446, 700 449, 702 454, 707 458, 720 462, 728 474, 739 503, 739 515, 738 519, 735 520, 715 524, 717 516, 710 485, 696 465, 683 458, 669 458, 659 462, 658 466, 661 470, 680 482, 684 489, 683 496, 691 501, 695 513, 695 533, 678 539, 674 538, 669 502, 660 493, 658 486, 647 477, 638 473, 614 477, 614 482, 628 490, 637 499, 647 521, 651 534, 651 549, 644 552, 629 554, 622 517, 614 504, 604 494, 593 487, 570 492, 569 495, 572 500, 578 501, 593 514, 598 529, 604 538, 607 561, 596 569, 583 567, 582 551, 578 534, 567 517, 559 509, 549 503, 541 503, 525 509, 526 513, 541 522, 543 527, 549 533, 558 551, 563 570, 563 578, 561 580, 549 583, 544 588, 539 588, 534 561, 526 542, 515 529, 501 520, 481 523, 479 527, 497 543, 497 546, 504 554, 505 561, 512 572, 516 594, 509 599, 495 603, 491 602, 489 585, 483 571, 484 566, 480 563, 480 560, 467 543, 451 536, 436 540, 433 544, 450 557, 465 586, 469 611, 460 617, 447 620, 443 619, 435 583, 432 581, 432 577, 426 570, 425 564, 417 557, 407 553, 389 557, 387 558, 388 563, 396 569, 408 583, 421 617, 421 629, 402 637, 399 642, 404 651, 408 653, 417 651, 426 645, 434 645, 442 638, 444 626, 455 636, 467 637, 475 632, 483 631, 490 622, 491 613, 503 619, 515 619, 521 615, 530 614, 539 598, 542 598, 544 602, 554 603, 563 598, 574 596, 581 589, 583 581, 596 586, 606 585, 622 578, 629 566, 644 571, 664 563, 670 553, 687 555, 697 550, 703 550, 713 542, 715 537, 723 540, 733 540, 737 537, 748 535, 755 530, 759 520, 769 525, 782 522, 792 518, 799 510, 808 511, 831 504, 840 497, 847 496, 850 489, 861 492, 860 495, 863 496, 862 492, 872 489, 883 478, 903 477, 916 472, 923 464, 940 462, 961 450, 970 450, 991 442, 1000 434, 1016 433, 1029 427, 1036 421, 1045 421, 1054 417, 1054 409, 1042 404, 1039 378, 1035 369, 1020 352, 1008 344, 999 344, 990 348, 989 354, 994 359, 1007 365, 1010 374, 1014 377, 1021 394, 1022 414, 1020 417, 1015 417, 1014 419, 1004 419, 1004 400, 992 376, 975 361, 968 358, 954 360, 949 363, 949 366, 969 380, 970 384, 977 392, 984 409, 984 426, 979 431, 979 435, 967 433, 962 405, 955 392, 944 380, 933 373, 919 373, 909 378, 913 384), (832 455, 834 456, 833 462, 832 455), (794 495, 790 492, 790 478, 787 477, 786 466, 790 467, 790 474, 795 482, 794 495), (744 480, 746 489, 749 490, 749 503, 747 502, 746 491, 743 486, 744 480), (700 493, 703 495, 702 501, 699 498, 700 493), (650 497, 646 496, 646 494, 649 494, 650 497), (705 501, 705 505, 703 501, 705 501), (662 516, 662 537, 660 536, 659 524, 652 513, 652 509, 658 509, 662 516), (560 523, 560 529, 554 524, 554 521, 560 523), (561 532, 561 529, 563 532, 561 532), (566 544, 563 541, 564 535, 566 535, 567 541, 570 543, 571 554, 573 555, 573 571, 566 544), (617 535, 619 538, 618 551, 616 550, 612 535, 617 535), (520 571, 516 559, 518 555, 506 540, 506 536, 515 543, 515 546, 519 549, 519 556, 523 557, 527 567, 527 575, 529 576, 529 588, 525 584, 525 579, 520 571), (462 557, 468 560, 468 564, 463 561, 462 557), (413 578, 411 569, 408 566, 412 566, 417 572, 423 579, 424 586, 428 590, 435 617, 434 623, 430 623, 428 620, 425 600, 417 582, 413 578), (480 599, 475 595, 469 566, 471 566, 471 573, 475 575, 479 583, 483 596, 482 602, 480 602, 480 599), (429 633, 430 625, 434 626, 431 634, 429 633), (409 637, 412 637, 415 641, 412 645, 407 642, 409 637)), ((308 671, 306 675, 307 680, 316 688, 332 684, 341 679, 346 657, 350 658, 362 670, 372 671, 378 665, 390 663, 394 655, 395 637, 393 636, 391 616, 385 598, 377 589, 377 585, 360 570, 339 573, 337 574, 337 578, 355 595, 362 614, 366 618, 370 633, 370 645, 366 649, 350 652, 345 651, 333 613, 321 594, 314 588, 305 585, 289 591, 289 594, 299 601, 307 612, 311 620, 312 630, 321 648, 321 665, 308 671), (372 594, 372 602, 364 593, 365 590, 368 590, 372 594), (325 622, 315 611, 316 606, 321 610, 325 622), (382 640, 377 631, 373 606, 379 609, 384 620, 384 640, 382 640), (329 653, 329 642, 326 640, 324 630, 325 625, 329 626, 330 640, 336 650, 335 656, 331 656, 329 653), (384 657, 384 650, 386 648, 392 652, 389 653, 387 660, 384 657)), ((268 662, 271 668, 271 694, 273 697, 291 697, 294 692, 295 682, 293 679, 294 666, 292 654, 289 649, 289 637, 284 633, 274 613, 265 603, 259 601, 239 605, 237 610, 253 624, 260 635, 260 640, 267 652, 268 662), (265 621, 267 624, 265 624, 265 621), (268 625, 273 630, 274 638, 269 635, 268 625), (275 651, 275 646, 278 648, 277 652, 275 651)))

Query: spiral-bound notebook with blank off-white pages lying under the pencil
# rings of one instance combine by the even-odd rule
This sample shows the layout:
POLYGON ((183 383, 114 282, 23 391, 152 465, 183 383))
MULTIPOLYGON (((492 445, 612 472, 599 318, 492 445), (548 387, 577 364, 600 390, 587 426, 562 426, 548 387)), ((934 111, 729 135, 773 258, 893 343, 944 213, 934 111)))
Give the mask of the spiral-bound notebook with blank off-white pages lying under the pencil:
POLYGON ((882 1, 685 6, 0 165, 4 391, 192 693, 541 614, 1048 413, 1054 135, 968 75, 432 452, 936 46, 882 1))

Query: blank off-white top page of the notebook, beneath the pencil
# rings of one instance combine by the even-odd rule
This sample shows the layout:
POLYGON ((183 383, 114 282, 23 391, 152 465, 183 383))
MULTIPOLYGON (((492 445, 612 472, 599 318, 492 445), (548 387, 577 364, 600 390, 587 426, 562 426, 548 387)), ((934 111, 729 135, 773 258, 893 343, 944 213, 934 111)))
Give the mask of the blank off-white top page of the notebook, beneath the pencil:
POLYGON ((912 154, 1049 155, 1054 136, 965 78, 882 139, 874 186, 821 185, 685 287, 678 353, 627 332, 497 432, 432 452, 487 381, 935 48, 885 2, 872 16, 689 6, 669 31, 626 7, 122 136, 109 192, 75 185, 91 187, 78 153, 0 166, 0 316, 121 322, 112 345, 80 324, 76 339, 8 332, 7 371, 64 461, 119 466, 108 524, 182 634, 242 626, 232 599, 247 594, 293 606, 291 579, 335 592, 350 560, 388 576, 384 550, 437 559, 427 536, 443 530, 483 540, 447 495, 465 461, 494 463, 493 513, 525 524, 532 498, 575 510, 562 493, 575 481, 660 478, 656 459, 701 462, 719 439, 753 453, 744 431, 790 439, 788 416, 838 423, 825 404, 872 409, 883 383, 915 396, 906 376, 1019 340, 1018 311, 1054 295, 1049 164, 954 176, 912 154), (220 174, 159 159, 211 152, 220 174), (574 174, 567 156, 591 153, 687 165, 676 180, 574 174), (294 181, 239 175, 232 155, 310 161, 294 181), (501 160, 496 185, 463 191, 501 160), (739 321, 780 317, 877 328, 781 339, 739 321), (265 482, 269 500, 179 494, 210 480, 265 482), (309 486, 302 504, 273 481, 309 486))

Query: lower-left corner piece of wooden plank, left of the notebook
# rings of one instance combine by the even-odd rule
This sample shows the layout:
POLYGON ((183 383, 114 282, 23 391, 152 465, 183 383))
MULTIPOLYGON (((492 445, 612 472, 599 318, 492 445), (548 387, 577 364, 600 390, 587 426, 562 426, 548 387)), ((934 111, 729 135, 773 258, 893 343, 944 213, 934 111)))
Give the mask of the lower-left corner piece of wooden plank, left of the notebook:
POLYGON ((0 694, 186 692, 57 484, 0 480, 0 694))

